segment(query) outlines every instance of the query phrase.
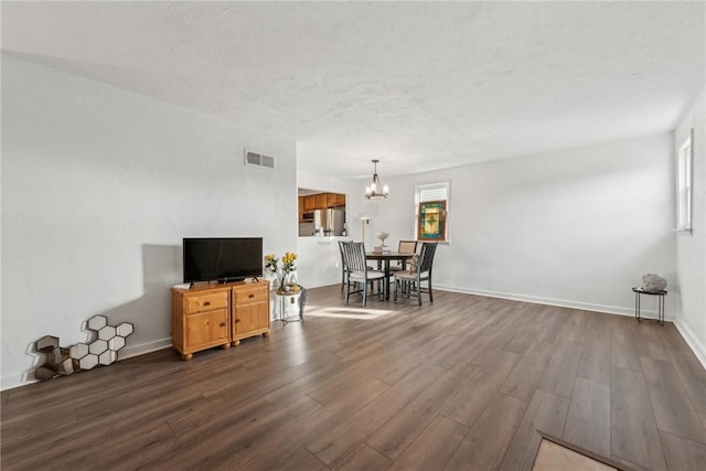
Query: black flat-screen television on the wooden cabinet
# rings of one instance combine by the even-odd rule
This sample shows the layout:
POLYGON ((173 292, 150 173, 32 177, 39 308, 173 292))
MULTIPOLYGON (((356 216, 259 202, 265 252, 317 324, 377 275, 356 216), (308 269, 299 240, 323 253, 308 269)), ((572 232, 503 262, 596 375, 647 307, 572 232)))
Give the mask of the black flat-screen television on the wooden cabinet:
POLYGON ((184 237, 184 282, 263 276, 263 237, 184 237))

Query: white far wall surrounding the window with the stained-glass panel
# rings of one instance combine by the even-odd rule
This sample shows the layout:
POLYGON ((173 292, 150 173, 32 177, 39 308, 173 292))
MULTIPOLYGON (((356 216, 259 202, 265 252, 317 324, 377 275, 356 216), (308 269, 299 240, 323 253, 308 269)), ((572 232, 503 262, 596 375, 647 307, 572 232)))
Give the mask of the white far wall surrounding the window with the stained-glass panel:
MULTIPOLYGON (((671 133, 385 178, 371 233, 414 236, 415 185, 451 181, 437 287, 633 314, 646 272, 676 281, 671 133)), ((381 175, 384 178, 384 175, 381 175)), ((644 313, 656 306, 643 301, 644 313)), ((666 300, 667 318, 674 297, 666 300)))

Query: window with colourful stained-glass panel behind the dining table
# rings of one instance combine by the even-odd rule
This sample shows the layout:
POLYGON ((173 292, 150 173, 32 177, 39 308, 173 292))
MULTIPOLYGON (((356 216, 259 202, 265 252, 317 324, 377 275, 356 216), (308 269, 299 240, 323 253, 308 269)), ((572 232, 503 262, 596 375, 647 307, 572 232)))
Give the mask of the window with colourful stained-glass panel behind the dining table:
POLYGON ((448 213, 450 186, 450 182, 441 182, 415 188, 417 240, 449 240, 448 213))

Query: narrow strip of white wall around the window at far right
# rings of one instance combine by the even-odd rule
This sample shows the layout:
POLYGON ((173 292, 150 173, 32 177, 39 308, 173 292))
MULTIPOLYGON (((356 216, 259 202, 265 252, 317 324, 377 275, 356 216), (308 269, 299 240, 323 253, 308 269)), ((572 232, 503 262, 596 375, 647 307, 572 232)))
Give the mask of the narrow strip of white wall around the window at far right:
POLYGON ((675 323, 706 367, 706 88, 675 131, 675 153, 694 129, 692 234, 676 237, 678 290, 675 323))

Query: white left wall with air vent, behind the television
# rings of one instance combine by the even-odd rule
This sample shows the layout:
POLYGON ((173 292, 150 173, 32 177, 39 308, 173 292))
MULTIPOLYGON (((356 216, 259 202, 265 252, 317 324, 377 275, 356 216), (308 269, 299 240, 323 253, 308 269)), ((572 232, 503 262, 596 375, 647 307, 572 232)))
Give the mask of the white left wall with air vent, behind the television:
POLYGON ((121 356, 169 345, 182 237, 296 246, 295 152, 3 53, 2 388, 32 379, 34 341, 86 341, 96 313, 135 323, 121 356), (277 169, 244 167, 244 148, 277 157, 277 169))

